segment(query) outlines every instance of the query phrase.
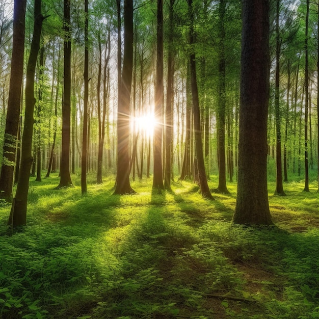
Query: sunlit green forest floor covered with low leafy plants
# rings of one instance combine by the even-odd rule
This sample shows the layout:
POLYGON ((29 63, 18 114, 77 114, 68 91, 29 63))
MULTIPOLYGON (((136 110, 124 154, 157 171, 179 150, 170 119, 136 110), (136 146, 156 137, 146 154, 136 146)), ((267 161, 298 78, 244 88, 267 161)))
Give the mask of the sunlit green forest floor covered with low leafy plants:
POLYGON ((0 207, 0 318, 319 318, 316 182, 286 183, 286 197, 270 183, 271 227, 231 223, 235 183, 209 201, 187 181, 115 196, 113 176, 91 177, 84 197, 58 182, 31 181, 13 235, 0 207))

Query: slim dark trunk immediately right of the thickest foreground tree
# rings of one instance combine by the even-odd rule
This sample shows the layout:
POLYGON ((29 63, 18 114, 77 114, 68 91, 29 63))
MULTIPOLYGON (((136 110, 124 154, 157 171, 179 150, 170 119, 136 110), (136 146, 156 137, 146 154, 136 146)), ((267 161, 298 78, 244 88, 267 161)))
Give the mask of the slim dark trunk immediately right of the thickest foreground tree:
POLYGON ((280 34, 279 34, 279 4, 276 3, 276 78, 275 78, 275 117, 276 117, 276 190, 275 195, 285 196, 282 184, 281 162, 281 116, 279 109, 279 71, 280 71, 280 34))

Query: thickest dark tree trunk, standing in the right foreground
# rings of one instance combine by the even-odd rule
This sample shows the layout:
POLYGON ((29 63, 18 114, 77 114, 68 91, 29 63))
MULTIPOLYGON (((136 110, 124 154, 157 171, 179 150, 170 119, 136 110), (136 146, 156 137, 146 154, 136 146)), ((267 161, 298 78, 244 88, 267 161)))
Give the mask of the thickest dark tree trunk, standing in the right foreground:
POLYGON ((243 0, 238 185, 233 222, 272 224, 267 191, 269 0, 243 0))

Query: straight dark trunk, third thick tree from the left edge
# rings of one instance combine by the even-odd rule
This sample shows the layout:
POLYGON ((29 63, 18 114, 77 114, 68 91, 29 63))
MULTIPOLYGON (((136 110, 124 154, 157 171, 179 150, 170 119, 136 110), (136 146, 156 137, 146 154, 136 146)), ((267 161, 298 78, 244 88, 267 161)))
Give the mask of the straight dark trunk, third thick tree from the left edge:
POLYGON ((64 0, 64 90, 62 111, 62 149, 60 183, 57 188, 72 187, 70 174, 70 119, 71 119, 71 40, 70 0, 64 0))

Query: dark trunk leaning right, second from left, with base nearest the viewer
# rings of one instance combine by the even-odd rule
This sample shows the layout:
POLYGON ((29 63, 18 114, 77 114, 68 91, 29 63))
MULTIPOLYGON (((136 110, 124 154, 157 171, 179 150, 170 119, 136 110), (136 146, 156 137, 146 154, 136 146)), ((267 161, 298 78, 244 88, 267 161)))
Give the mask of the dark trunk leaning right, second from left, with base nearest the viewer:
POLYGON ((28 201, 30 168, 33 162, 32 157, 32 136, 34 124, 34 77, 37 65, 38 52, 40 49, 40 39, 42 22, 44 17, 41 14, 41 0, 35 0, 34 3, 34 29, 30 49, 28 67, 26 69, 25 81, 25 113, 24 126, 21 145, 21 166, 18 178, 17 190, 12 201, 10 217, 8 224, 11 227, 26 224, 26 204, 28 201))

